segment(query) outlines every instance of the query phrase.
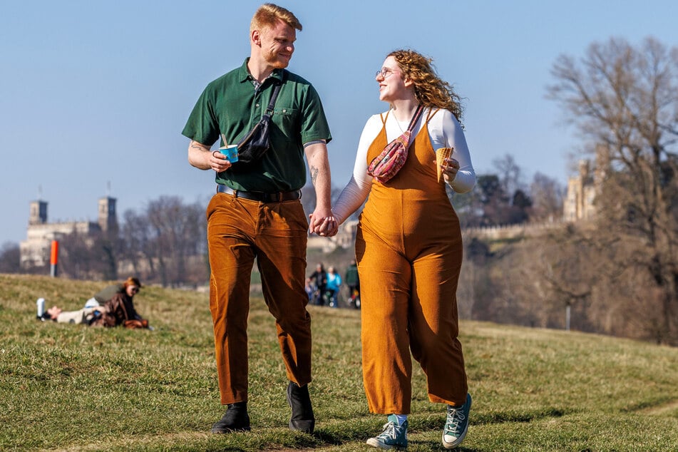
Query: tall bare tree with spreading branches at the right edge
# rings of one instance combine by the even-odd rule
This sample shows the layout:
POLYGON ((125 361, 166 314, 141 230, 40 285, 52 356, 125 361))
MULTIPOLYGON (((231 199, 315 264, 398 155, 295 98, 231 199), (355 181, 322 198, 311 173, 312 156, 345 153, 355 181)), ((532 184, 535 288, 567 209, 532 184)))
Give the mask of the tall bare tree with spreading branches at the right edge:
POLYGON ((580 61, 560 56, 552 73, 550 98, 607 149, 598 237, 623 237, 626 259, 617 265, 642 271, 645 292, 660 294, 654 339, 677 344, 678 49, 612 38, 593 43, 580 61))

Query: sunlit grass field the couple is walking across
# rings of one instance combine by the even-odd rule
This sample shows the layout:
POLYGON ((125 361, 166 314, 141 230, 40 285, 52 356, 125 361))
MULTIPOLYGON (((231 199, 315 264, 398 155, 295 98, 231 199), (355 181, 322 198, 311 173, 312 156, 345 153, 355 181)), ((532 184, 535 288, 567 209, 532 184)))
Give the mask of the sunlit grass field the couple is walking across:
MULTIPOLYGON (((0 450, 371 451, 385 422, 361 381, 359 312, 309 307, 317 424, 289 431, 287 380, 261 299, 250 314, 252 431, 212 435, 223 413, 207 294, 146 287, 155 331, 38 322, 35 302, 79 309, 101 282, 0 275, 0 450)), ((471 427, 460 451, 678 451, 678 349, 461 322, 471 427)), ((443 406, 414 377, 409 451, 441 451, 443 406)))

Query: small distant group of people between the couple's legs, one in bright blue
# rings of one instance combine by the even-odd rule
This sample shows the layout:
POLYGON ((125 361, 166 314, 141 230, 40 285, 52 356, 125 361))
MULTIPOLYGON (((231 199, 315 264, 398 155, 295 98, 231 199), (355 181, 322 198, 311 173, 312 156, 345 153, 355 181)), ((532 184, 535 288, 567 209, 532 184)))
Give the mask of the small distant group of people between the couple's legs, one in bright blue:
POLYGON ((356 300, 360 296, 360 282, 356 261, 351 261, 344 279, 335 267, 327 267, 325 270, 324 264, 319 262, 315 271, 306 279, 305 289, 309 303, 317 306, 340 307, 341 287, 344 287, 344 284, 348 287, 349 293, 346 299, 347 306, 359 309, 360 304, 356 300))

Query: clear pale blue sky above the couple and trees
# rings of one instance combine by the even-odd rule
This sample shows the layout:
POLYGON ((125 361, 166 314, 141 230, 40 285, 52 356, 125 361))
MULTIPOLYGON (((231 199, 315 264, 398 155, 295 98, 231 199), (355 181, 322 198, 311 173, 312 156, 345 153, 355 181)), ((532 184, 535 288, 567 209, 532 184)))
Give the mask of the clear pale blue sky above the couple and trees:
MULTIPOLYGON (((260 1, 4 0, 0 4, 0 244, 26 238, 29 202, 50 221, 94 220, 99 197, 118 213, 161 195, 207 202, 208 171, 190 167, 180 133, 200 92, 249 54, 260 1), (110 191, 108 189, 110 187, 110 191)), ((562 53, 594 41, 654 36, 678 43, 675 1, 280 0, 299 17, 289 69, 319 91, 343 187, 366 118, 379 101, 374 72, 396 48, 431 56, 466 98, 477 173, 510 154, 525 179, 563 185, 583 148, 545 98, 562 53)))

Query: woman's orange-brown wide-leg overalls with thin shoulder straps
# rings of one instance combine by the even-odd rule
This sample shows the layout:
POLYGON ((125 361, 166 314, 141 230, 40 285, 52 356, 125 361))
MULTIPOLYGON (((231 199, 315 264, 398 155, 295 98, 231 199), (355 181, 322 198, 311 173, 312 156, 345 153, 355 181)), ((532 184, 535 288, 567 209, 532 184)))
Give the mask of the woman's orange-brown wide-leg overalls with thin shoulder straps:
MULTIPOLYGON (((426 116, 399 173, 384 184, 373 180, 360 217, 363 379, 372 413, 409 414, 410 351, 426 374, 430 401, 466 401, 456 302, 463 246, 458 217, 437 178, 428 136, 434 114, 426 116)), ((388 144, 386 118, 368 163, 388 144)))

